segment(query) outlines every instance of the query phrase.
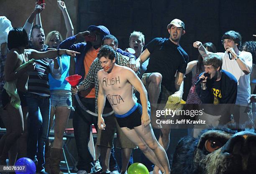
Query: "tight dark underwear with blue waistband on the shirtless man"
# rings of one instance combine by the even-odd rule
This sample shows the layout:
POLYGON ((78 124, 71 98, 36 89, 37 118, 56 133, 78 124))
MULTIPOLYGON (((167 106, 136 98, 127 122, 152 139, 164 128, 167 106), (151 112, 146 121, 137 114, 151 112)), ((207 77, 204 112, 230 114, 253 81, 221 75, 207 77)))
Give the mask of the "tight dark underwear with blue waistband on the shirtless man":
POLYGON ((133 129, 134 127, 141 125, 141 115, 142 107, 141 104, 138 103, 138 107, 136 108, 135 111, 133 111, 127 117, 116 117, 116 120, 120 127, 128 127, 129 129, 133 129))

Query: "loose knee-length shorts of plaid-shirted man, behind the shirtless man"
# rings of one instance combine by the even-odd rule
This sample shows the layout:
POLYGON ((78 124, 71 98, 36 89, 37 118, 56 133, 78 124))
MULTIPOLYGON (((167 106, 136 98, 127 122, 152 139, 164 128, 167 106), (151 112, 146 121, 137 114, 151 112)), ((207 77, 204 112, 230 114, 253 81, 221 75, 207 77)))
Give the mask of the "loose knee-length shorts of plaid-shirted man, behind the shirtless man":
POLYGON ((123 149, 123 148, 137 149, 138 148, 123 133, 114 115, 104 117, 104 121, 106 124, 105 130, 97 129, 97 143, 96 143, 97 146, 113 148, 113 139, 114 139, 115 132, 117 132, 117 144, 116 144, 117 148, 120 148, 120 149, 123 149))

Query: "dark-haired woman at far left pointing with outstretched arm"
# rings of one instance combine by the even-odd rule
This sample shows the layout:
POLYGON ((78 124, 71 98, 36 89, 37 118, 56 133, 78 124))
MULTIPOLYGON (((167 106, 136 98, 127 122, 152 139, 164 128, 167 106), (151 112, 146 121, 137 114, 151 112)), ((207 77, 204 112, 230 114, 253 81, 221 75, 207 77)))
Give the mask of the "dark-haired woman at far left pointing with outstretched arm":
MULTIPOLYGON (((14 83, 17 89, 18 98, 20 104, 13 104, 12 96, 7 89, 3 90, 2 100, 3 109, 8 112, 10 125, 10 131, 5 135, 5 140, 0 144, 0 165, 6 165, 6 159, 8 157, 8 151, 10 147, 16 142, 16 140, 23 134, 24 122, 23 114, 27 115, 26 104, 26 91, 28 86, 28 71, 32 71, 35 68, 33 63, 28 66, 20 68, 20 65, 28 62, 32 57, 42 59, 44 57, 54 58, 58 55, 68 54, 74 56, 74 51, 70 50, 50 50, 47 52, 38 52, 36 50, 28 49, 28 35, 22 27, 16 27, 10 30, 8 34, 8 49, 10 50, 6 57, 4 76, 6 83, 14 83), (19 70, 17 70, 19 68, 19 70)), ((33 62, 33 61, 30 61, 33 62)), ((6 85, 7 86, 7 85, 6 85)), ((16 89, 13 89, 14 93, 16 89)), ((9 91, 9 90, 8 90, 9 91)), ((19 146, 22 144, 19 144, 19 146)), ((20 156, 26 157, 24 153, 26 148, 19 148, 18 152, 20 156)))

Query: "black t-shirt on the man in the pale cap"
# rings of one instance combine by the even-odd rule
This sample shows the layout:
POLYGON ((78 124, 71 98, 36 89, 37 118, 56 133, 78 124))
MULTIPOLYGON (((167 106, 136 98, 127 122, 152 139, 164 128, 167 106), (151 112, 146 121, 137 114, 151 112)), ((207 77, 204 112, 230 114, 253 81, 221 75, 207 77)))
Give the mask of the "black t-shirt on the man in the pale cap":
POLYGON ((188 55, 180 45, 175 45, 168 38, 154 38, 146 45, 150 52, 150 60, 145 73, 159 72, 162 75, 161 84, 170 92, 176 92, 175 74, 185 74, 188 55))

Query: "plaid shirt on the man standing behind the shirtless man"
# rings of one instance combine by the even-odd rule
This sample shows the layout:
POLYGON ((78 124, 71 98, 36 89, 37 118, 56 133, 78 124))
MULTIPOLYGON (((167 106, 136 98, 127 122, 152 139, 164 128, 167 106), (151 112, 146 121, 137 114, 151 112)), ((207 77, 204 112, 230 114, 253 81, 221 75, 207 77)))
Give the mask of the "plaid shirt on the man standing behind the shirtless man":
MULTIPOLYGON (((117 61, 116 63, 118 65, 122 65, 125 67, 128 67, 129 64, 129 57, 121 55, 119 52, 117 52, 117 61)), ((83 85, 84 89, 88 89, 89 87, 95 86, 95 112, 98 112, 97 108, 97 99, 98 99, 98 92, 99 92, 99 82, 97 77, 97 72, 101 70, 102 67, 100 65, 99 59, 96 58, 92 65, 90 66, 90 70, 86 76, 86 78, 79 83, 78 87, 83 85)))

